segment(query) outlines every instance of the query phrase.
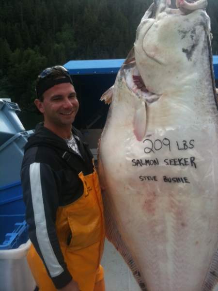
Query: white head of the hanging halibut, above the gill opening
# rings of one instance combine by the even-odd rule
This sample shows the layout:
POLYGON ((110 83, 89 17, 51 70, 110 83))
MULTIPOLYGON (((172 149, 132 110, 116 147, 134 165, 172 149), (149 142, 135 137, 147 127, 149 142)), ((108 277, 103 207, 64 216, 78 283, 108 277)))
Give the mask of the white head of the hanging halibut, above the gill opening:
POLYGON ((149 92, 163 95, 193 83, 195 64, 208 49, 210 34, 203 3, 155 0, 142 17, 134 43, 135 61, 149 92), (188 8, 189 13, 184 13, 185 8, 172 8, 176 5, 188 8))

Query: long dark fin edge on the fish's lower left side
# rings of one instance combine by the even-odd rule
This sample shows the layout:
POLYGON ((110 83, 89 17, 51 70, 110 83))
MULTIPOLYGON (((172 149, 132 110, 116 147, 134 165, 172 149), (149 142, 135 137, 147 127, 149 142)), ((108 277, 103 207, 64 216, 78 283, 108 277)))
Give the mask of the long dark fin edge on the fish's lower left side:
POLYGON ((117 251, 121 254, 126 264, 132 271, 136 281, 138 282, 140 289, 142 291, 147 291, 146 284, 140 275, 140 270, 137 267, 134 259, 130 255, 125 242, 123 241, 121 234, 117 228, 117 223, 114 219, 111 203, 106 191, 102 192, 103 203, 104 203, 104 213, 105 213, 105 224, 106 224, 106 237, 111 242, 117 251))

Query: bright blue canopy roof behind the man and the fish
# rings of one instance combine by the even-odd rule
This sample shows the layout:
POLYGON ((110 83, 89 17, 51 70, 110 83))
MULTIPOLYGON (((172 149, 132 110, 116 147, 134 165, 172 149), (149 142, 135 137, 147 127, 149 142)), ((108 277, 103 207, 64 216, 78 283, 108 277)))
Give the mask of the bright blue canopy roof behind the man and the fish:
MULTIPOLYGON (((116 74, 125 59, 69 61, 64 66, 71 75, 116 74)), ((215 78, 218 80, 218 56, 213 56, 215 78)))

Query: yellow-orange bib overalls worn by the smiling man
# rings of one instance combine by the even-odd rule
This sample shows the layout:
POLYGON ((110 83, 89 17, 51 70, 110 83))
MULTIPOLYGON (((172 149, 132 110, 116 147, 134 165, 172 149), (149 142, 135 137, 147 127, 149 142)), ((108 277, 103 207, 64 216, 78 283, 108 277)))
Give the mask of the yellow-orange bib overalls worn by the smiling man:
MULTIPOLYGON (((95 169, 92 174, 84 176, 80 172, 78 176, 83 182, 83 194, 72 204, 58 208, 57 236, 67 268, 78 283, 79 289, 104 291, 104 271, 100 260, 105 227, 98 176, 95 169), (67 240, 71 234, 72 239, 68 244, 67 240)), ((27 259, 39 290, 55 291, 56 288, 33 245, 27 259)))

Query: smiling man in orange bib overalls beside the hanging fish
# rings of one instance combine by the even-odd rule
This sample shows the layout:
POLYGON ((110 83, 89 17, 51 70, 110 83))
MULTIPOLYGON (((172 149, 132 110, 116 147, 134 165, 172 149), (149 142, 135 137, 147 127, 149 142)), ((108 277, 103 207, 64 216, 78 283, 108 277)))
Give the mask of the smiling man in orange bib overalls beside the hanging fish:
POLYGON ((105 291, 104 217, 93 156, 72 127, 78 99, 68 71, 45 69, 34 103, 44 123, 25 146, 21 182, 40 291, 105 291))

